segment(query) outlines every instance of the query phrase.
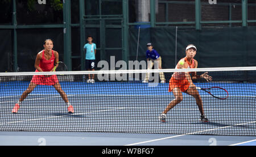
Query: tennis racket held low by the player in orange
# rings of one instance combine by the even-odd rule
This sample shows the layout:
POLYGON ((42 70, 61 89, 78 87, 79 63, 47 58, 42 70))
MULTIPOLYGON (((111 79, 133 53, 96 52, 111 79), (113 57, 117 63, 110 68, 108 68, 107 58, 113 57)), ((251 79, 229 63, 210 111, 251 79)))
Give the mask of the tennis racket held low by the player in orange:
POLYGON ((227 99, 229 96, 229 92, 221 87, 210 87, 210 88, 200 88, 196 87, 197 90, 203 90, 207 92, 209 95, 217 98, 217 99, 227 99))

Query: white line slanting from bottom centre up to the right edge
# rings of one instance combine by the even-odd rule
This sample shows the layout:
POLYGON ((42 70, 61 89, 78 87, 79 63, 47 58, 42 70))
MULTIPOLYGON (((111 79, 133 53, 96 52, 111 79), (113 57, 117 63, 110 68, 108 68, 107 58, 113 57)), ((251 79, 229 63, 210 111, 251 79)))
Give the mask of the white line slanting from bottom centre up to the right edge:
POLYGON ((160 140, 163 140, 163 139, 170 139, 170 138, 175 138, 175 137, 181 137, 181 136, 184 136, 184 135, 192 135, 192 134, 197 134, 197 133, 203 133, 203 132, 206 132, 206 131, 213 131, 213 130, 217 130, 217 129, 230 128, 230 127, 233 127, 233 126, 251 124, 251 123, 255 123, 255 122, 256 122, 256 121, 252 121, 252 122, 246 122, 246 123, 242 123, 242 124, 223 126, 223 127, 220 127, 220 128, 214 128, 214 129, 207 129, 207 130, 202 130, 202 131, 196 131, 196 132, 193 132, 193 133, 175 135, 175 136, 171 136, 171 137, 165 137, 165 138, 159 138, 159 139, 152 139, 152 140, 150 140, 150 141, 143 141, 143 142, 138 142, 138 143, 131 143, 131 144, 125 145, 125 146, 141 145, 141 144, 143 144, 143 143, 149 143, 149 142, 160 141, 160 140))

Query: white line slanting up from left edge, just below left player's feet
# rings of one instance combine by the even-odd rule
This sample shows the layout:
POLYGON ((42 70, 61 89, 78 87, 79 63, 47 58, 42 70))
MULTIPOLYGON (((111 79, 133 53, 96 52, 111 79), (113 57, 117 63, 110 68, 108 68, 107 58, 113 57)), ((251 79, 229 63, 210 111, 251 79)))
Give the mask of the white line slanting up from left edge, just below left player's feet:
POLYGON ((6 125, 6 124, 14 124, 14 123, 18 123, 18 122, 25 122, 25 121, 36 121, 36 120, 44 120, 47 118, 59 118, 59 117, 65 117, 65 116, 76 116, 76 115, 81 115, 81 114, 88 114, 88 113, 94 113, 94 112, 105 112, 105 111, 112 111, 112 110, 116 110, 116 109, 122 109, 122 108, 115 108, 115 109, 105 109, 105 110, 101 110, 101 111, 93 111, 93 112, 84 112, 84 113, 73 113, 73 114, 67 114, 67 115, 63 115, 63 116, 53 116, 53 117, 45 117, 45 118, 35 118, 35 119, 30 119, 30 120, 23 120, 23 121, 12 121, 12 122, 6 122, 6 123, 2 123, 0 125, 6 125))

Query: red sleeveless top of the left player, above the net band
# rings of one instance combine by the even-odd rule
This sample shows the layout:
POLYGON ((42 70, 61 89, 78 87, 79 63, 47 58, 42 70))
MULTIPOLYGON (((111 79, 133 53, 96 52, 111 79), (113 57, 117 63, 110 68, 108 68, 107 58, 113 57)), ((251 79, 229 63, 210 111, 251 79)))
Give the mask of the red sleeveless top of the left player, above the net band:
MULTIPOLYGON (((49 60, 46 60, 46 58, 44 58, 44 51, 45 50, 43 50, 42 59, 40 60, 39 67, 43 71, 51 71, 54 67, 54 61, 55 61, 53 50, 52 50, 52 57, 49 60)), ((38 72, 38 70, 36 70, 36 72, 38 72)))

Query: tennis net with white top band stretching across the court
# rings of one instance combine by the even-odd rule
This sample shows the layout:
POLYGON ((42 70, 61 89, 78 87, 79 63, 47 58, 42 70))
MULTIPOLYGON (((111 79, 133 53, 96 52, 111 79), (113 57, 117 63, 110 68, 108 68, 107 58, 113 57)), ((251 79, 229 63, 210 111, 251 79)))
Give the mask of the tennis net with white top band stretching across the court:
POLYGON ((47 83, 52 73, 0 73, 0 131, 256 135, 256 67, 54 72, 66 98, 56 86, 38 85, 12 113, 32 77, 47 83), (184 92, 162 114, 177 100, 168 92, 172 74, 191 71, 212 77, 193 80, 196 87, 220 87, 209 91, 221 99, 196 88, 208 122, 200 120, 200 102, 184 92), (166 83, 160 83, 160 72, 166 83), (142 83, 147 74, 148 83, 142 83))

